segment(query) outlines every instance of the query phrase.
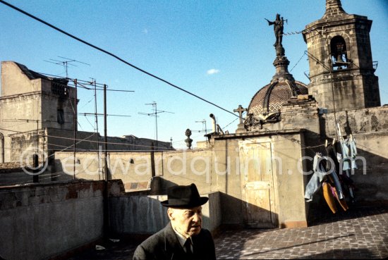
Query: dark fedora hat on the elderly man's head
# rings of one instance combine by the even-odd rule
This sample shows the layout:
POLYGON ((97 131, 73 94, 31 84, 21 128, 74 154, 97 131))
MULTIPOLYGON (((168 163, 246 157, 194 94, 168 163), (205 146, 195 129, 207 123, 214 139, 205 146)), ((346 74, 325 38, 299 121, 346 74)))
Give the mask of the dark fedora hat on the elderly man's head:
POLYGON ((190 209, 195 206, 201 206, 209 200, 208 197, 200 197, 197 186, 194 183, 190 185, 176 185, 167 190, 167 200, 160 202, 163 206, 178 209, 190 209))

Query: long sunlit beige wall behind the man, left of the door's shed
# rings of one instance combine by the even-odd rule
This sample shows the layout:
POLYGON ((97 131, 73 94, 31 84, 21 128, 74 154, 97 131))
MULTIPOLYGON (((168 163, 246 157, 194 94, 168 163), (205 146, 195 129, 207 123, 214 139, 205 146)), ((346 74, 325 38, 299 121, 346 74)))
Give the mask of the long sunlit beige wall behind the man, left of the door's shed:
MULTIPOLYGON (((152 163, 150 151, 109 152, 109 174, 123 180, 126 190, 131 190, 134 182, 148 182, 154 168, 156 176, 169 181, 164 182, 163 190, 169 185, 195 182, 201 192, 211 192, 211 154, 211 150, 155 151, 152 163)), ((63 173, 60 179, 73 178, 73 153, 56 152, 55 159, 56 172, 63 173)), ((77 152, 76 162, 75 178, 102 180, 104 154, 77 152)))

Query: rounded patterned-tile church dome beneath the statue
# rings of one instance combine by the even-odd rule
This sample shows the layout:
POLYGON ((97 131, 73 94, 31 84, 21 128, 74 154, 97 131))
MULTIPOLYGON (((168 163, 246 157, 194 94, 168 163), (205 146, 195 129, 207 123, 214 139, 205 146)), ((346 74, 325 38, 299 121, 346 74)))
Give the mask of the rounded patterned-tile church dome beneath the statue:
POLYGON ((274 113, 279 113, 284 103, 299 94, 308 94, 308 88, 303 82, 287 79, 273 80, 256 92, 250 101, 247 114, 262 119, 268 118, 274 113))

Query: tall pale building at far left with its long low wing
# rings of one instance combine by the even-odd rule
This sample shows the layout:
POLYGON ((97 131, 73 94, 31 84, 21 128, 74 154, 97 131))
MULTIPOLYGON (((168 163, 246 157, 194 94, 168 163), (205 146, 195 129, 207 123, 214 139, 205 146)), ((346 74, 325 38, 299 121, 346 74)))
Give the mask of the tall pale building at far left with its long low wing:
MULTIPOLYGON (((20 63, 3 61, 0 163, 23 163, 25 155, 33 153, 47 154, 50 159, 54 151, 73 150, 74 144, 78 151, 99 151, 104 137, 77 129, 74 115, 78 101, 69 80, 49 78, 20 63)), ((150 150, 152 143, 156 150, 173 149, 169 142, 133 135, 108 137, 107 142, 109 150, 150 150)))

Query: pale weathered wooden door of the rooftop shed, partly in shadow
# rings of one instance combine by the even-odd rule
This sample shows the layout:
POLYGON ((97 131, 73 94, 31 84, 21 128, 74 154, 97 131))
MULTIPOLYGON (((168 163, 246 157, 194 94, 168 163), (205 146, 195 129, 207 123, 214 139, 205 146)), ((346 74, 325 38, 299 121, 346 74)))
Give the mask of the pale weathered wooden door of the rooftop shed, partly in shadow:
POLYGON ((246 142, 241 147, 243 216, 248 228, 274 228, 274 176, 271 142, 246 142))

